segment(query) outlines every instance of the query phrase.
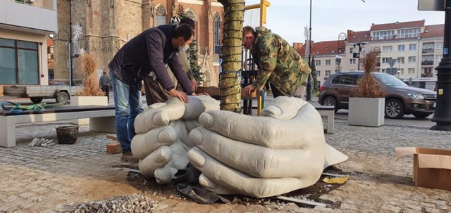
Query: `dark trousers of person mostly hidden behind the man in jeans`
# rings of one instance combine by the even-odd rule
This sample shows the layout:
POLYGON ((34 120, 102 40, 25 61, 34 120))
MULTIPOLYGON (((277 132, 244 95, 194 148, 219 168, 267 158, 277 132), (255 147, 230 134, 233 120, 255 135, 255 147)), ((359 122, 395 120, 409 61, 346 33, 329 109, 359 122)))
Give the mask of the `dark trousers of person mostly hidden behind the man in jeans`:
POLYGON ((144 78, 144 91, 146 91, 147 105, 153 103, 164 103, 171 98, 171 93, 164 89, 158 80, 154 77, 147 76, 144 78))

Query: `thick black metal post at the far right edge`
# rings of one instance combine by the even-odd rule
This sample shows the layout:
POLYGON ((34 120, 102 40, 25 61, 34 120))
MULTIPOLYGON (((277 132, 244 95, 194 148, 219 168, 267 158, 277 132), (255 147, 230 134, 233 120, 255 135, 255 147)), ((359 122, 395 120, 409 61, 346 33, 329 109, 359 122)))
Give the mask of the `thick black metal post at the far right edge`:
POLYGON ((431 121, 433 130, 451 131, 451 0, 445 1, 445 34, 443 37, 443 58, 437 70, 437 107, 431 121))

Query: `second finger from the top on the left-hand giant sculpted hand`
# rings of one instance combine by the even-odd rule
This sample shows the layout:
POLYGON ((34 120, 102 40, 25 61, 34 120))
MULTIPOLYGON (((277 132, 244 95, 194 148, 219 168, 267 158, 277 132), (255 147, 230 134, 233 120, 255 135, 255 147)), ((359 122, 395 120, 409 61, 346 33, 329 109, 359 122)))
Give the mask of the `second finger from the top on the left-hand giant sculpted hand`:
POLYGON ((159 127, 145 134, 137 134, 133 137, 131 148, 135 157, 146 157, 161 146, 169 146, 178 140, 177 132, 172 127, 159 127))

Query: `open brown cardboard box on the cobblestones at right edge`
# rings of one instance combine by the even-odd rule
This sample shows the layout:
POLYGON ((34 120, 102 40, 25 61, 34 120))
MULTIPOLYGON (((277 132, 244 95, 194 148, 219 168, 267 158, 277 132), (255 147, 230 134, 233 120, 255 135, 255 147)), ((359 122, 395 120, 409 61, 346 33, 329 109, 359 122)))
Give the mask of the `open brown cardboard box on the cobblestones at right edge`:
POLYGON ((415 186, 451 190, 451 150, 396 148, 396 158, 414 155, 415 186))

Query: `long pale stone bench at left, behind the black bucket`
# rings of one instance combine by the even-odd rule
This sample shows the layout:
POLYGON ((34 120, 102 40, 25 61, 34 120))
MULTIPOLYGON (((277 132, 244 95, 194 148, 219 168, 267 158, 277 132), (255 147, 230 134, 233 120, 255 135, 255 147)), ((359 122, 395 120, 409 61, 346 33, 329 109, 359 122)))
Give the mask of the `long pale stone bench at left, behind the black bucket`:
POLYGON ((20 114, 11 111, 0 111, 0 146, 16 146, 16 124, 30 122, 54 122, 57 120, 73 120, 89 118, 89 130, 115 133, 114 106, 67 106, 63 108, 47 108, 44 112, 26 110, 20 114))

